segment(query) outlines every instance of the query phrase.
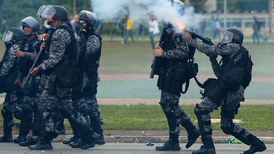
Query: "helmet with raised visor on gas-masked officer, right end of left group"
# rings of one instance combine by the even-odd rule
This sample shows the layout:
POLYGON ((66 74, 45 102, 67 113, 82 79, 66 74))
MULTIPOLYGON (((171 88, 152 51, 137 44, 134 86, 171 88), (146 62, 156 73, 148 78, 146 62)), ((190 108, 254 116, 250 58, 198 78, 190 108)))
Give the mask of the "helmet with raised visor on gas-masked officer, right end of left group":
POLYGON ((96 23, 96 14, 87 10, 82 10, 79 12, 79 19, 80 21, 87 22, 87 26, 94 27, 96 23))

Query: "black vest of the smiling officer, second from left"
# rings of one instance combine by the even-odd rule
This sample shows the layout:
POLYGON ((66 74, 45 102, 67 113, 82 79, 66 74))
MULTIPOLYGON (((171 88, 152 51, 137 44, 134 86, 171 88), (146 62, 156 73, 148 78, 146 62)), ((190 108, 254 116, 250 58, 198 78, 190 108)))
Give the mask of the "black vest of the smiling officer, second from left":
MULTIPOLYGON (((28 53, 34 53, 33 51, 33 44, 36 42, 36 38, 33 37, 31 40, 28 40, 27 37, 24 38, 24 40, 21 43, 21 48, 20 51, 23 52, 28 52, 28 53)), ((33 65, 33 61, 30 59, 27 59, 25 57, 21 57, 19 59, 19 71, 20 73, 22 73, 24 76, 28 75, 28 72, 30 70, 30 68, 33 65)))

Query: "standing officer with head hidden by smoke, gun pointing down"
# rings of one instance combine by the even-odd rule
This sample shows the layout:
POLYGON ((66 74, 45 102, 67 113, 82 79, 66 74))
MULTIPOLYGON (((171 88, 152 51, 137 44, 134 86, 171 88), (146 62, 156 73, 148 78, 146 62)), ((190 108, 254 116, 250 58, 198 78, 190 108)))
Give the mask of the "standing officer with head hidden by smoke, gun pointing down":
MULTIPOLYGON (((181 1, 174 1, 173 5, 179 5, 183 13, 184 4, 181 1)), ((175 64, 187 63, 188 45, 182 39, 182 35, 173 31, 171 24, 164 24, 165 33, 162 47, 159 44, 155 46, 154 57, 162 57, 159 65, 161 72, 159 74, 157 86, 161 90, 161 105, 169 124, 169 140, 162 146, 155 149, 159 151, 175 150, 179 151, 179 133, 180 124, 187 130, 188 143, 186 148, 192 146, 200 136, 199 129, 190 121, 190 117, 185 114, 184 110, 178 105, 181 96, 182 83, 175 79, 175 64)), ((183 74, 186 75, 186 74, 183 74)))

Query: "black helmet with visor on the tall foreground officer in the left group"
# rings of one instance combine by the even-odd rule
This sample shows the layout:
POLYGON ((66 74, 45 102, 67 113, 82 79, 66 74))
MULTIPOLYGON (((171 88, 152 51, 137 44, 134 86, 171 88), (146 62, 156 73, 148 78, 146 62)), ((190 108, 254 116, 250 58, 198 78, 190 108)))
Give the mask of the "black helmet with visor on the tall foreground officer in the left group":
POLYGON ((47 8, 41 13, 41 18, 46 21, 47 18, 52 17, 53 19, 66 20, 68 19, 67 10, 59 5, 47 5, 47 8))

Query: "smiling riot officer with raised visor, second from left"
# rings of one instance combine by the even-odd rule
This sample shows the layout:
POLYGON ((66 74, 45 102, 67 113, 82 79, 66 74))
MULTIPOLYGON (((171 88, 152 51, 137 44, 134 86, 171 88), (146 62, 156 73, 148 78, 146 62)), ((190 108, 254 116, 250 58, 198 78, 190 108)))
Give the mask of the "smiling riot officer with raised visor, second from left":
MULTIPOLYGON (((29 69, 33 65, 37 54, 33 51, 33 44, 37 42, 34 32, 39 32, 39 22, 29 16, 19 22, 19 26, 22 27, 25 34, 25 39, 21 43, 21 48, 18 51, 14 51, 16 57, 19 58, 19 71, 15 84, 19 84, 28 75, 29 69)), ((33 100, 38 89, 38 84, 40 81, 40 76, 32 77, 27 83, 25 90, 25 98, 22 104, 22 118, 20 122, 19 136, 13 141, 14 143, 22 143, 27 141, 27 134, 31 128, 32 118, 33 118, 33 100)), ((33 132, 35 135, 35 131, 33 132)), ((23 143, 22 146, 30 146, 34 143, 23 143)))

